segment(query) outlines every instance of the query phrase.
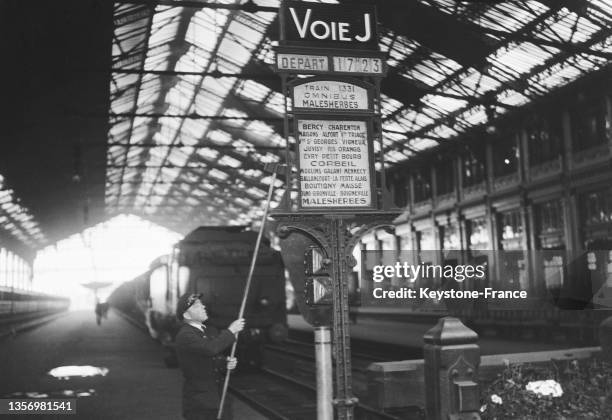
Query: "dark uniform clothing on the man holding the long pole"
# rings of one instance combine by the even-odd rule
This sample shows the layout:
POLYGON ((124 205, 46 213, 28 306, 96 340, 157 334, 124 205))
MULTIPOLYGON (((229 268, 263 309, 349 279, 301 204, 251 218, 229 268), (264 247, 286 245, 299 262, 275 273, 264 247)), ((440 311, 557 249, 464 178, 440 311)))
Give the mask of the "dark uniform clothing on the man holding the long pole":
POLYGON ((176 335, 176 355, 183 372, 183 416, 185 419, 215 419, 219 407, 219 384, 215 355, 235 340, 229 330, 214 327, 204 331, 184 323, 176 335))

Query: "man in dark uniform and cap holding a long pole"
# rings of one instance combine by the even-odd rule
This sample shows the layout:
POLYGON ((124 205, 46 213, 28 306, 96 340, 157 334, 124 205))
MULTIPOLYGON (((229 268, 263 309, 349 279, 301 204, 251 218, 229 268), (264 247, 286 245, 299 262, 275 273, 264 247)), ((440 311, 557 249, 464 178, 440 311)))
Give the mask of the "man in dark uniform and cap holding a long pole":
MULTIPOLYGON (((219 410, 219 369, 215 356, 236 340, 236 334, 244 328, 244 319, 237 319, 227 329, 218 331, 205 326, 208 319, 201 294, 180 297, 176 316, 183 325, 176 335, 176 356, 183 372, 183 418, 185 420, 213 420, 219 410)), ((236 358, 227 358, 226 368, 236 367, 236 358)), ((227 404, 228 401, 226 401, 227 404)), ((226 407, 229 408, 229 407, 226 407)), ((231 417, 231 410, 224 410, 224 419, 231 417), (226 413, 227 411, 227 413, 226 413)))

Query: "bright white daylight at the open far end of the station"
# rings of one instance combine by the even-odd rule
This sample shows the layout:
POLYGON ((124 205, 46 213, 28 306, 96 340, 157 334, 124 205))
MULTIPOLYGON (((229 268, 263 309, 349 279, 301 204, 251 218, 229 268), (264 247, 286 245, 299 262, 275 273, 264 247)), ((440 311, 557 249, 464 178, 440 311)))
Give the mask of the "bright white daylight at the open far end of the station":
POLYGON ((40 251, 34 261, 34 289, 69 297, 73 310, 93 309, 96 294, 105 301, 119 284, 169 254, 180 238, 139 217, 117 216, 40 251))

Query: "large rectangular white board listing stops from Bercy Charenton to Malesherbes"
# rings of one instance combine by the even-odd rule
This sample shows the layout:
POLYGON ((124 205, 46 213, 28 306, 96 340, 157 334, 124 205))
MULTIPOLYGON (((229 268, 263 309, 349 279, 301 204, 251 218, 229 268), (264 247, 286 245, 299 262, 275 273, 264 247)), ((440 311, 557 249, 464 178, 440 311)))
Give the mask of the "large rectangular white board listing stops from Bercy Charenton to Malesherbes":
POLYGON ((300 207, 372 206, 368 125, 355 120, 297 120, 300 207))

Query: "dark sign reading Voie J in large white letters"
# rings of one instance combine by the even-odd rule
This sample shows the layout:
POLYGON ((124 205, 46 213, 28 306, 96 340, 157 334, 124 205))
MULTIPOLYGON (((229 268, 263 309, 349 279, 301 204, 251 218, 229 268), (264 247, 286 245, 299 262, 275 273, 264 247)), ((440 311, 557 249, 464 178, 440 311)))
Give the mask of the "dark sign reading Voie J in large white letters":
POLYGON ((378 50, 376 9, 285 0, 281 36, 287 44, 378 50))

